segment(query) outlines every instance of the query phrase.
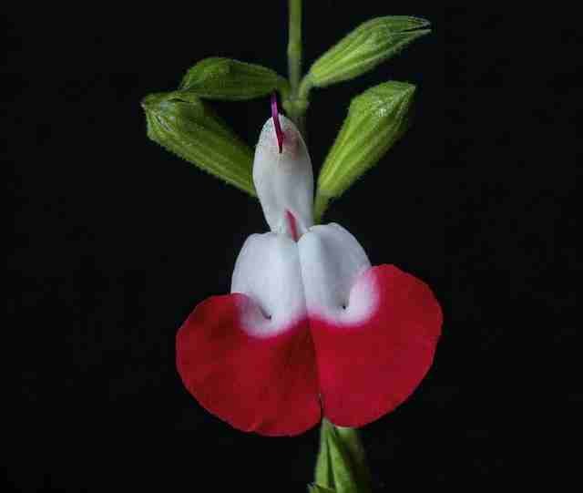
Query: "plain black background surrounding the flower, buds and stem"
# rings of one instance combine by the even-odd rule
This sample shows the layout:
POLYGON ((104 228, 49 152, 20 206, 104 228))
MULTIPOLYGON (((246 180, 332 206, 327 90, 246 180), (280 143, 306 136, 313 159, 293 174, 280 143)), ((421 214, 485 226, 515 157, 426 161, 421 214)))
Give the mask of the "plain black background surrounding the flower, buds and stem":
MULTIPOLYGON (((363 428, 376 487, 524 481, 513 473, 527 449, 546 464, 538 477, 581 403, 568 320, 580 273, 578 31, 567 13, 307 4, 306 68, 376 15, 420 15, 435 29, 366 76, 314 90, 308 114, 317 171, 350 98, 387 79, 419 88, 413 128, 327 214, 373 263, 432 285, 445 310, 424 383, 363 428)), ((304 491, 317 428, 233 430, 174 365, 179 324, 228 292, 243 241, 266 229, 261 208, 149 141, 139 106, 205 56, 285 74, 285 4, 79 4, 7 19, 10 482, 304 491)), ((250 145, 269 117, 266 99, 214 107, 250 145)))

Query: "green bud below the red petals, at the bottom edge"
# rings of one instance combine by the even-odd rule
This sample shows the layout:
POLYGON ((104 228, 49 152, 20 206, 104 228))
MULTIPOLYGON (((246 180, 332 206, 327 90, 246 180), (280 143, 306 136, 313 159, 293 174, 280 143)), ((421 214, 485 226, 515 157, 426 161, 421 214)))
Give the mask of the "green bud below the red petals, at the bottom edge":
POLYGON ((370 472, 357 430, 322 420, 315 483, 337 493, 372 491, 370 472))

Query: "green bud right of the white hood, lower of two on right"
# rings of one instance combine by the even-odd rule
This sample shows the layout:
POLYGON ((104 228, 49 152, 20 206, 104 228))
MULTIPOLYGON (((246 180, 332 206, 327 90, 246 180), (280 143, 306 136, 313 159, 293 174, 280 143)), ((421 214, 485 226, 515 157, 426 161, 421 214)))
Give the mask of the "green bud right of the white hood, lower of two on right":
POLYGON ((371 169, 407 129, 415 87, 385 82, 353 98, 348 116, 326 157, 316 191, 315 215, 371 169))

